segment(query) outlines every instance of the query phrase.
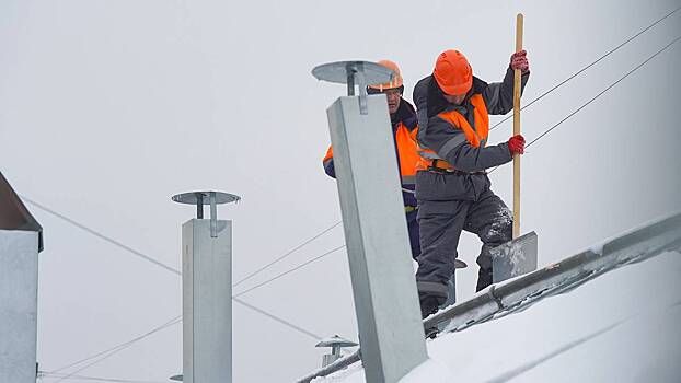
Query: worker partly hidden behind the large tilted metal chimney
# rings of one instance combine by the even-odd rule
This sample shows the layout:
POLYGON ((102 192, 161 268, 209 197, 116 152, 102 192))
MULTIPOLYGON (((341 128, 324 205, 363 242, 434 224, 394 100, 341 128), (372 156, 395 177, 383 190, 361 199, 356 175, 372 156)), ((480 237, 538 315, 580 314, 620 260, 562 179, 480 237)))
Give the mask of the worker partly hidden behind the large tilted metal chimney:
MULTIPOLYGON (((416 134, 418 131, 416 112, 412 104, 402 98, 404 84, 397 65, 390 60, 381 60, 378 63, 391 69, 395 72, 395 76, 390 82, 367 86, 367 93, 383 93, 388 98, 388 112, 390 113, 392 134, 397 151, 397 165, 402 176, 402 197, 409 233, 409 244, 412 256, 416 258, 420 254, 418 222, 416 221, 417 205, 414 198, 414 175, 416 173, 416 163, 420 159, 416 152, 416 134)), ((323 164, 326 174, 335 178, 333 148, 328 148, 323 164)))

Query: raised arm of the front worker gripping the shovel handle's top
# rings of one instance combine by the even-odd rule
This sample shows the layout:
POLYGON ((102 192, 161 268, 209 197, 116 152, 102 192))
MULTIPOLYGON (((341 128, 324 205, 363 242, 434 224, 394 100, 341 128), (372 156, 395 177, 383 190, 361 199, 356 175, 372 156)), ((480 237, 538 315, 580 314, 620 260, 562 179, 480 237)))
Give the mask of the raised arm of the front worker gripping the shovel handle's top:
POLYGON ((524 50, 511 56, 511 63, 506 70, 504 81, 487 84, 483 91, 483 100, 490 115, 505 115, 513 109, 513 69, 518 68, 522 74, 520 77, 520 94, 530 79, 530 65, 524 50))

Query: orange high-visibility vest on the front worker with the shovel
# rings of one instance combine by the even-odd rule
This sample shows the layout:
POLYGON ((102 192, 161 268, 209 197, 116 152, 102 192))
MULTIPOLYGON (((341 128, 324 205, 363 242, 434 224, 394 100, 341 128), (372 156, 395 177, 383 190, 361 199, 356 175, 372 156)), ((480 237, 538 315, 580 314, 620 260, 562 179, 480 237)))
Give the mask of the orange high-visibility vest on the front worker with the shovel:
MULTIPOLYGON (((471 104, 474 106, 473 114, 475 119, 475 129, 473 129, 465 117, 457 111, 442 112, 438 114, 438 117, 448 121, 452 126, 452 129, 461 129, 472 147, 484 148, 487 143, 487 136, 489 134, 489 115, 487 113, 487 106, 485 105, 482 94, 473 95, 471 97, 471 104)), ((429 166, 432 166, 434 160, 437 160, 437 167, 454 169, 454 166, 440 159, 436 152, 428 148, 419 146, 417 152, 419 154, 419 160, 416 164, 417 171, 427 170, 429 166)))

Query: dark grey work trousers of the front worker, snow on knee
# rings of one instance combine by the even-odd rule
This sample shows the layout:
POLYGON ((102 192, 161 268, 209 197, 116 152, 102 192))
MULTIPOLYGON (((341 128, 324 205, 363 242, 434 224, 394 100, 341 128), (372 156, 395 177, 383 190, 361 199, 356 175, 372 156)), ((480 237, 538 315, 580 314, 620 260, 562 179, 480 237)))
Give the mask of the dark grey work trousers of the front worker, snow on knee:
POLYGON ((462 230, 476 234, 483 242, 476 259, 481 271, 492 269, 489 249, 511 240, 512 214, 486 181, 485 187, 464 200, 418 200, 422 253, 417 259, 416 282, 419 294, 447 298, 447 282, 454 272, 462 230))

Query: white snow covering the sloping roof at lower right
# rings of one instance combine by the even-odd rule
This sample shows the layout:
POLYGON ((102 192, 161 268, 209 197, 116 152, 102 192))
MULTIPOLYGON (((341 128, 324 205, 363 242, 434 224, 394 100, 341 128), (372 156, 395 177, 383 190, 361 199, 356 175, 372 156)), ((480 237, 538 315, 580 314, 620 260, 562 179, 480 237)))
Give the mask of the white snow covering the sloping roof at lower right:
MULTIPOLYGON (((431 360, 402 382, 680 382, 680 251, 443 334, 428 341, 431 360)), ((365 379, 356 363, 313 382, 365 379)))

